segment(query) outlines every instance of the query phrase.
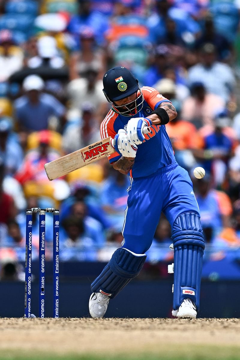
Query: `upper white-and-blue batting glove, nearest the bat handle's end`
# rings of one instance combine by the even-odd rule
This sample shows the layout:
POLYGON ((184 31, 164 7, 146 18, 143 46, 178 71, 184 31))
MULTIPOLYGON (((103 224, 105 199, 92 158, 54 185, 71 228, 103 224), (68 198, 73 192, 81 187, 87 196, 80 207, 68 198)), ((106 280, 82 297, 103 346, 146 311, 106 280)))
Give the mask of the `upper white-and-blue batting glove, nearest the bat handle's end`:
POLYGON ((127 123, 127 139, 131 145, 139 145, 144 140, 143 128, 151 125, 151 120, 144 117, 133 117, 127 123))

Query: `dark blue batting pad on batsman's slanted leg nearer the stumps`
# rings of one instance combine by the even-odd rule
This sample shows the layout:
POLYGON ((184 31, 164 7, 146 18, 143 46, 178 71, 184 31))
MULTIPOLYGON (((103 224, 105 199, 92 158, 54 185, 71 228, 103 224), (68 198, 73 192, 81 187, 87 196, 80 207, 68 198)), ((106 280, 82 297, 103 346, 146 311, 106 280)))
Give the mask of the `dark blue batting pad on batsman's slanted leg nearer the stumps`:
POLYGON ((145 254, 117 249, 101 274, 91 284, 92 292, 102 292, 114 298, 132 278, 141 271, 146 261, 145 254))

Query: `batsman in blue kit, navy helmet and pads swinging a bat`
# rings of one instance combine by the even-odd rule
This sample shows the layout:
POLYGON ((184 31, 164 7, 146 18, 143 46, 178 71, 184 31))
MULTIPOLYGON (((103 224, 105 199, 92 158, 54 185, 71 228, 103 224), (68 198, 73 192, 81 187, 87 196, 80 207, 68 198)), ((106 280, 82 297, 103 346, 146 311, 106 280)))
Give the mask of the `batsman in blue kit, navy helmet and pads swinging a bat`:
POLYGON ((109 300, 140 273, 163 211, 172 227, 174 249, 172 315, 196 318, 205 245, 193 184, 176 162, 166 132, 176 109, 152 87, 140 89, 123 66, 105 73, 103 85, 112 109, 101 123, 101 138, 114 138, 116 152, 109 162, 129 175, 130 186, 122 247, 91 284, 90 314, 102 318, 109 300), (146 126, 148 134, 143 131, 146 126))

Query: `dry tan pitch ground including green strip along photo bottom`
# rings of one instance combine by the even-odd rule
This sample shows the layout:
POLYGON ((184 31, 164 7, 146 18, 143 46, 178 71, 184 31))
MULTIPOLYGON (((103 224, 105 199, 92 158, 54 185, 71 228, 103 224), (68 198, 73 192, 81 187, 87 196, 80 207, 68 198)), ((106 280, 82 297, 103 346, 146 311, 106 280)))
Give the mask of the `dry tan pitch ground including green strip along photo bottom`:
POLYGON ((240 319, 0 319, 0 359, 240 360, 240 319))

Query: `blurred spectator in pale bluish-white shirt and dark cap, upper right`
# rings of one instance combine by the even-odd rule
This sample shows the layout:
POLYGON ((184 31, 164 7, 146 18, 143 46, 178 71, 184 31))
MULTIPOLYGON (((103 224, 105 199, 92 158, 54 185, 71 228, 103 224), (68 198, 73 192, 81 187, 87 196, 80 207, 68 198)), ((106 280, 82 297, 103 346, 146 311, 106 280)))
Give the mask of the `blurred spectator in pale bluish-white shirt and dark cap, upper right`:
POLYGON ((216 48, 213 44, 205 44, 201 49, 200 62, 189 69, 188 80, 202 82, 208 93, 220 96, 225 104, 235 101, 236 85, 234 73, 227 64, 216 61, 216 48))

